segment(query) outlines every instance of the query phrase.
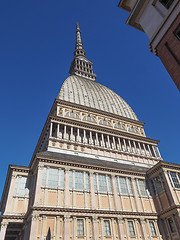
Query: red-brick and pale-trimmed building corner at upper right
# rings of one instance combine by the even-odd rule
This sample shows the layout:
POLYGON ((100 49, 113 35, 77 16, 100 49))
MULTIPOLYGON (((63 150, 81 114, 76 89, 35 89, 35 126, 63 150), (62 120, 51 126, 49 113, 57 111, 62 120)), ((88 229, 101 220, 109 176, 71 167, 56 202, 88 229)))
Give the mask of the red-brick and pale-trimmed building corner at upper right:
POLYGON ((128 25, 147 34, 150 51, 180 90, 180 1, 120 0, 119 7, 130 12, 128 25))

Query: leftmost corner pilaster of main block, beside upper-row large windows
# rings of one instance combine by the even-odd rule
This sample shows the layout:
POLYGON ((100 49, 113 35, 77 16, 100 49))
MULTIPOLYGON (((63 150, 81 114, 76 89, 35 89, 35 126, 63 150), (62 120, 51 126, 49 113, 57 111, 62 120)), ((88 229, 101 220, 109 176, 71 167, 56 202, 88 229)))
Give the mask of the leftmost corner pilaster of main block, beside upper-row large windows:
POLYGON ((44 169, 44 166, 40 166, 40 165, 37 168, 37 178, 36 178, 36 189, 35 189, 34 205, 39 205, 40 204, 43 169, 44 169))

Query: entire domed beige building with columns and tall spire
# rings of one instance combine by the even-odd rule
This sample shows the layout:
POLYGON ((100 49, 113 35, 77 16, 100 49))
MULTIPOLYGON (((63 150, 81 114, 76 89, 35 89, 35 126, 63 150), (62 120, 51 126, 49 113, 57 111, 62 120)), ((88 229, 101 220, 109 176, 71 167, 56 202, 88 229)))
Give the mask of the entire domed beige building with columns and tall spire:
POLYGON ((78 24, 69 72, 29 166, 9 166, 0 239, 180 239, 180 165, 95 81, 78 24))

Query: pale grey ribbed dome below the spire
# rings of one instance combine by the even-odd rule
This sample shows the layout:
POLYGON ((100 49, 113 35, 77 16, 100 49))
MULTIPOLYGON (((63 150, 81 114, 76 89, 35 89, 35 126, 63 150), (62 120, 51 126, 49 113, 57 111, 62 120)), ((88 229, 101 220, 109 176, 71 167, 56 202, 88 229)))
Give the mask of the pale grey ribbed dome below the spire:
POLYGON ((119 95, 111 89, 81 76, 69 76, 64 81, 58 98, 138 120, 131 107, 119 95))

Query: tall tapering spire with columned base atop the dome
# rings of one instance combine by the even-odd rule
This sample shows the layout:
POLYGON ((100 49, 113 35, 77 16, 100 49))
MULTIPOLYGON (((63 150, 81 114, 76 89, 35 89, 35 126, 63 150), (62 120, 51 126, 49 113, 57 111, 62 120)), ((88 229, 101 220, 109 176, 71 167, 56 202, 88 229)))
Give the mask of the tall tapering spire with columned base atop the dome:
POLYGON ((96 79, 96 75, 93 73, 92 65, 92 62, 86 58, 79 23, 77 23, 74 59, 71 63, 69 73, 70 75, 77 75, 94 81, 96 79))

